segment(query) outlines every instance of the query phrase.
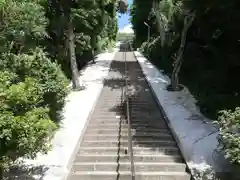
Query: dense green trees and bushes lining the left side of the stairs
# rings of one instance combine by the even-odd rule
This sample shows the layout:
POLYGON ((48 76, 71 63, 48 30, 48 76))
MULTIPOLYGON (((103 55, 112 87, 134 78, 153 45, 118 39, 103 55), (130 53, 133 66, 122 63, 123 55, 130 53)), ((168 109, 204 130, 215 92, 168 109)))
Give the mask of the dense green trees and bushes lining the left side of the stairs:
POLYGON ((78 70, 111 47, 116 0, 0 0, 0 178, 18 157, 46 152, 78 70))

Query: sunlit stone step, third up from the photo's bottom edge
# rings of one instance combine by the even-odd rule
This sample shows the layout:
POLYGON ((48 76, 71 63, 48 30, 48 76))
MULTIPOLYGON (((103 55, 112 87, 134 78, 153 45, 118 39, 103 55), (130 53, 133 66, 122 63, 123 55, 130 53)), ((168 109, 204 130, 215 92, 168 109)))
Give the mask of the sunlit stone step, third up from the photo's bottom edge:
MULTIPOLYGON (((134 154, 135 162, 182 162, 182 158, 179 155, 169 156, 161 154, 153 155, 136 155, 134 154)), ((126 154, 78 154, 75 162, 129 162, 129 155, 126 154)))

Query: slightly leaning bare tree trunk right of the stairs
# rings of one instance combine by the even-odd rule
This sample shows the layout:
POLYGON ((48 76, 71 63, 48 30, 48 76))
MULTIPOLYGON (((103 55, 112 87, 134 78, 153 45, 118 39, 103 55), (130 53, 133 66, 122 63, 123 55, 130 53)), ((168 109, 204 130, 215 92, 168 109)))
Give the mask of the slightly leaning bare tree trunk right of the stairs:
POLYGON ((179 72, 180 72, 180 69, 181 69, 183 61, 184 61, 183 52, 184 52, 184 48, 185 48, 185 44, 186 44, 187 32, 188 32, 188 29, 190 28, 190 26, 192 25, 194 19, 195 19, 195 12, 191 13, 190 15, 187 15, 184 18, 184 26, 183 26, 183 30, 181 33, 181 44, 178 49, 176 61, 173 64, 173 72, 172 72, 172 76, 171 76, 171 90, 173 90, 173 91, 180 90, 179 72))

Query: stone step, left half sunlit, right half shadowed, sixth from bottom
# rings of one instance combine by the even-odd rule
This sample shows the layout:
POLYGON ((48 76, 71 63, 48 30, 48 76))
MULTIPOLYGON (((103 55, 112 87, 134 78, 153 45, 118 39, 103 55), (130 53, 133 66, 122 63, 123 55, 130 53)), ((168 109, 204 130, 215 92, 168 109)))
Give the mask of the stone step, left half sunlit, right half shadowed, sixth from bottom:
MULTIPOLYGON (((83 137, 84 140, 109 140, 109 141, 124 141, 128 140, 128 134, 124 135, 118 135, 117 133, 115 134, 87 134, 83 137)), ((132 139, 133 140, 173 140, 173 137, 169 134, 159 134, 157 135, 151 135, 151 134, 146 134, 146 135, 138 135, 138 134, 132 134, 132 139)))

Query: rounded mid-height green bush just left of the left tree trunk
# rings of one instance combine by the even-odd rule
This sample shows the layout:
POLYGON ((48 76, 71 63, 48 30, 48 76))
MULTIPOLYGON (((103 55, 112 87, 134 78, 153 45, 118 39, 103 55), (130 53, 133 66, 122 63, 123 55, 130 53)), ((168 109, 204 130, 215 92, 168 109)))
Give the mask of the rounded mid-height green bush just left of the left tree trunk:
MULTIPOLYGON (((26 89, 30 90, 31 87, 33 92, 30 94, 34 94, 32 98, 42 98, 33 102, 33 104, 36 107, 49 108, 51 119, 56 118, 56 113, 64 105, 64 99, 68 93, 68 80, 60 67, 51 62, 41 49, 37 48, 31 55, 5 54, 0 63, 0 70, 15 73, 19 82, 27 81, 24 85, 20 83, 12 86, 13 93, 15 89, 16 91, 22 90, 24 94, 26 93, 24 91, 26 89)), ((30 100, 30 97, 25 98, 30 100)), ((28 106, 29 103, 27 102, 28 106)))

